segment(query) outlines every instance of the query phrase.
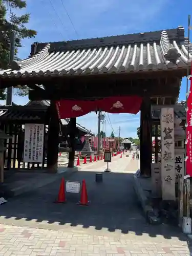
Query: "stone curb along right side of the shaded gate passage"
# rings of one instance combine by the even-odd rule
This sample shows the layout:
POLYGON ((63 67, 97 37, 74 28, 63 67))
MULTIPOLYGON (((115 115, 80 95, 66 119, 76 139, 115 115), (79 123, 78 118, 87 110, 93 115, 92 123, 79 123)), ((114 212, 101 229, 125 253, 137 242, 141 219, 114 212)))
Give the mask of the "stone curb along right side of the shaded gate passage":
POLYGON ((145 196, 145 192, 142 189, 140 180, 140 170, 134 174, 134 189, 137 195, 139 202, 141 203, 141 207, 143 209, 146 220, 153 225, 161 224, 160 218, 155 214, 153 207, 150 205, 148 198, 145 196))

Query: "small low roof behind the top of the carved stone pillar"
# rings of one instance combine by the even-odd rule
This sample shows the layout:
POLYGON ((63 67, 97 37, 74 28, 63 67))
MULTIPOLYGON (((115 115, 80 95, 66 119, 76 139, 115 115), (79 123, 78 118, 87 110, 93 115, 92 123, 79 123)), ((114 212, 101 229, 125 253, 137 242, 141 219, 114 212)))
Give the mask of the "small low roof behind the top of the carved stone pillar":
POLYGON ((180 118, 181 120, 186 119, 185 106, 181 104, 176 105, 152 105, 152 120, 160 120, 161 118, 161 108, 174 108, 174 116, 180 118))

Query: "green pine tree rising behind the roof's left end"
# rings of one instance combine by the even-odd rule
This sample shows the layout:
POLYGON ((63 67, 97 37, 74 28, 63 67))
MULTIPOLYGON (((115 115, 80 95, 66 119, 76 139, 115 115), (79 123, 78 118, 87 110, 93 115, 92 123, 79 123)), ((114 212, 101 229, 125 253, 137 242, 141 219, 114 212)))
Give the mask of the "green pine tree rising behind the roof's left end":
MULTIPOLYGON (((36 31, 27 29, 30 14, 26 13, 20 16, 14 14, 14 10, 26 8, 24 0, 0 0, 0 69, 9 68, 9 49, 10 49, 10 31, 15 35, 15 59, 17 59, 17 50, 22 47, 23 38, 32 38, 36 31), (10 14, 9 14, 10 13, 10 14), (9 19, 6 17, 9 16, 9 19)), ((28 94, 27 87, 18 87, 15 94, 25 96, 28 94)), ((0 91, 0 99, 6 98, 6 91, 0 91)))

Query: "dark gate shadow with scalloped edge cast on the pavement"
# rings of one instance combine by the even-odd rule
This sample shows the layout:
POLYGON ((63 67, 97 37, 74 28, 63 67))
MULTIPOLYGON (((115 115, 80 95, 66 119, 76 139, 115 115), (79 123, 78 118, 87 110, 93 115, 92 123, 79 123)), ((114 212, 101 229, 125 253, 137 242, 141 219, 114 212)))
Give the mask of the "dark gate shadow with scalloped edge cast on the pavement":
MULTIPOLYGON (((134 232, 137 236, 148 233, 151 237, 161 235, 166 239, 177 237, 186 240, 180 229, 173 226, 147 224, 142 215, 141 207, 133 188, 133 174, 129 173, 103 173, 103 182, 95 182, 96 172, 78 171, 68 180, 80 181, 86 179, 89 206, 79 206, 79 194, 67 193, 66 204, 54 204, 58 195, 60 180, 54 181, 31 193, 10 199, 1 205, 1 216, 12 219, 12 224, 17 225, 17 220, 36 220, 37 223, 47 225, 58 222, 61 228, 65 224, 81 228, 94 227, 96 230, 108 230, 121 233, 134 232)), ((2 223, 4 218, 0 219, 2 223)), ((58 226, 58 224, 57 224, 58 226)), ((36 227, 36 226, 34 226, 36 227)), ((51 229, 51 228, 50 228, 51 229)))

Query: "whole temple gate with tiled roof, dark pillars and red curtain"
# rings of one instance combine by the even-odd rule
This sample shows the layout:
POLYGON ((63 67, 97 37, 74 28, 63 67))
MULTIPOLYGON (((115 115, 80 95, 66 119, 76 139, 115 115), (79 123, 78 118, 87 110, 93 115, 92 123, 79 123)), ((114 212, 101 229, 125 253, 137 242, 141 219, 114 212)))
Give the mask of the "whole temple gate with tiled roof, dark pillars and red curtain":
POLYGON ((191 62, 184 28, 61 42, 35 42, 29 58, 0 71, 0 88, 27 86, 30 100, 51 100, 48 165, 56 172, 59 119, 71 118, 69 167, 74 166, 76 117, 90 111, 141 111, 140 168, 151 174, 152 105, 174 105, 191 62), (189 57, 189 59, 188 59, 189 57))

